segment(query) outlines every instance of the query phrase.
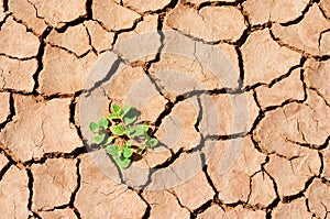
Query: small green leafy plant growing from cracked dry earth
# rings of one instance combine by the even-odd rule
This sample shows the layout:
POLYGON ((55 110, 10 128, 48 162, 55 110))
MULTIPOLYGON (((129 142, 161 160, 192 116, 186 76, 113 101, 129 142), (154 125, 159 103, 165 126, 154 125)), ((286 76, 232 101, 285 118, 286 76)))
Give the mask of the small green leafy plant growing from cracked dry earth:
POLYGON ((89 129, 96 134, 94 141, 100 147, 106 147, 119 167, 127 168, 134 154, 142 155, 147 149, 158 144, 151 138, 150 125, 135 124, 136 110, 127 106, 123 109, 112 103, 108 117, 101 117, 97 122, 90 122, 89 129))

